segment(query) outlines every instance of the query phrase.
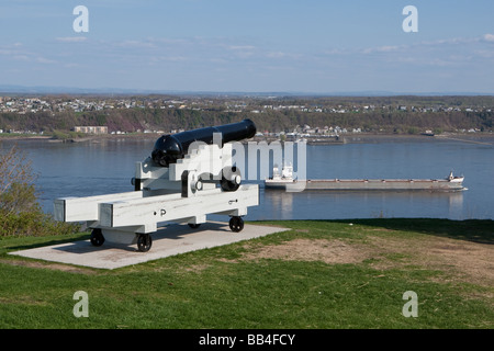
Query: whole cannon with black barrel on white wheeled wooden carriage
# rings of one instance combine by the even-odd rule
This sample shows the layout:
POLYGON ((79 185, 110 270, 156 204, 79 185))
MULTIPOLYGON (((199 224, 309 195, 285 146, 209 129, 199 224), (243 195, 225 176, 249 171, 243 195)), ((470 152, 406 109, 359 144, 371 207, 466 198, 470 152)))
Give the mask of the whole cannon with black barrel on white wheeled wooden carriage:
POLYGON ((233 145, 251 138, 250 120, 159 137, 149 157, 136 162, 134 191, 54 202, 54 216, 63 222, 86 222, 90 241, 137 244, 146 252, 151 234, 167 223, 198 228, 210 214, 227 215, 239 233, 249 206, 259 204, 257 184, 242 184, 233 162, 233 145))

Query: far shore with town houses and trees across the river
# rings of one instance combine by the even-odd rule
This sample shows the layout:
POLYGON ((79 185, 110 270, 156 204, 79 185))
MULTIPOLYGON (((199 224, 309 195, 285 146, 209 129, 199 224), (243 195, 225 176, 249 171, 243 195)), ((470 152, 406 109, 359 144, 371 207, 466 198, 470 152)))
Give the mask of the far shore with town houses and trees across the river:
MULTIPOLYGON (((492 116, 494 114, 493 97, 390 97, 390 98, 296 98, 296 97, 168 97, 168 95, 144 95, 144 97, 110 97, 110 95, 46 95, 46 97, 0 97, 0 133, 40 134, 50 133, 58 126, 44 126, 26 123, 31 128, 22 128, 22 123, 15 123, 15 115, 23 118, 35 118, 43 115, 44 118, 55 116, 74 116, 92 118, 97 116, 98 123, 74 123, 64 125, 63 129, 69 129, 83 134, 127 134, 127 133, 178 133, 190 128, 190 117, 195 125, 201 126, 207 121, 201 120, 207 114, 210 120, 224 118, 235 120, 250 117, 260 121, 259 134, 276 135, 277 137, 311 137, 311 136, 338 136, 341 134, 358 134, 366 132, 390 132, 390 126, 380 123, 393 123, 391 120, 401 121, 408 118, 396 128, 394 133, 407 134, 435 134, 445 132, 458 133, 492 133, 492 116), (133 113, 143 112, 143 118, 148 118, 150 111, 155 121, 141 121, 131 124, 110 123, 112 116, 122 115, 123 111, 133 113), (188 112, 182 114, 181 112, 188 112), (187 122, 179 125, 170 122, 177 115, 187 122), (307 117, 304 117, 307 116, 307 117), (318 116, 317 116, 318 115, 318 116), (462 123, 446 122, 444 125, 424 122, 437 116, 473 117, 471 125, 462 123), (8 117, 7 117, 8 116, 8 117), (162 117, 156 117, 162 116, 162 117), (350 116, 346 118, 341 116, 350 116), (359 123, 359 117, 361 123, 359 123), (382 121, 374 121, 381 116, 382 121), (396 118, 398 116, 400 118, 396 118), (186 121, 187 120, 187 121, 186 121), (288 123, 287 120, 293 121, 288 123), (388 121, 390 120, 390 121, 388 121), (199 121, 199 122, 198 122, 199 121), (266 121, 270 121, 269 125, 266 121), (280 123, 277 123, 280 122, 280 123), (412 122, 411 122, 412 121, 412 122), (414 123, 420 121, 420 124, 414 123), (122 126, 122 127, 121 127, 122 126), (396 132, 397 131, 397 132, 396 132)), ((135 117, 133 114, 133 118, 135 117)), ((126 116, 127 114, 124 113, 126 116)))

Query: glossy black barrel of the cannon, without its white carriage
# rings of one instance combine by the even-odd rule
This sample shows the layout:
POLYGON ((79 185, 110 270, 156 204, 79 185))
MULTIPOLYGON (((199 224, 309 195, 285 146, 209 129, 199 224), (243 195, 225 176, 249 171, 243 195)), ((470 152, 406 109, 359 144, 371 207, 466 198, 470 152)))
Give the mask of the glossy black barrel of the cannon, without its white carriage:
POLYGON ((183 158, 192 143, 203 141, 209 145, 213 144, 214 133, 222 134, 223 147, 228 141, 239 141, 254 137, 256 135, 256 125, 250 120, 244 120, 238 123, 192 129, 173 135, 162 135, 155 143, 151 158, 155 163, 168 167, 168 165, 175 163, 178 159, 183 158))

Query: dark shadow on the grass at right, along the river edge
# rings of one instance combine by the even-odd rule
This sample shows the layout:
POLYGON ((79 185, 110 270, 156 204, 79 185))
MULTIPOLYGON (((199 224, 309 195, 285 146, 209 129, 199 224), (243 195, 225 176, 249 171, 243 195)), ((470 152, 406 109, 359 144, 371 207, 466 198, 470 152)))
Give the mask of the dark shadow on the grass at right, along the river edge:
POLYGON ((492 219, 436 219, 436 218, 375 218, 341 219, 336 223, 353 223, 391 230, 415 231, 459 240, 494 245, 492 219))

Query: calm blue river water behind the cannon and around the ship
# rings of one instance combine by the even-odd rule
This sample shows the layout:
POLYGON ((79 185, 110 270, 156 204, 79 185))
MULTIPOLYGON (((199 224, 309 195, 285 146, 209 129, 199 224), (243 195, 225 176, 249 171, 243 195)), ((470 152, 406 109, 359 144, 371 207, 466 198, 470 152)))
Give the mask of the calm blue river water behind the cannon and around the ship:
MULTIPOLYGON (((494 219, 494 136, 483 138, 348 137, 343 145, 306 147, 308 179, 465 177, 467 191, 287 193, 265 190, 247 220, 434 217, 494 219)), ((135 163, 150 155, 153 138, 109 138, 83 143, 0 141, 26 152, 38 176, 40 202, 53 212, 57 197, 132 191, 135 163)), ((214 216, 213 216, 214 218, 214 216)))

